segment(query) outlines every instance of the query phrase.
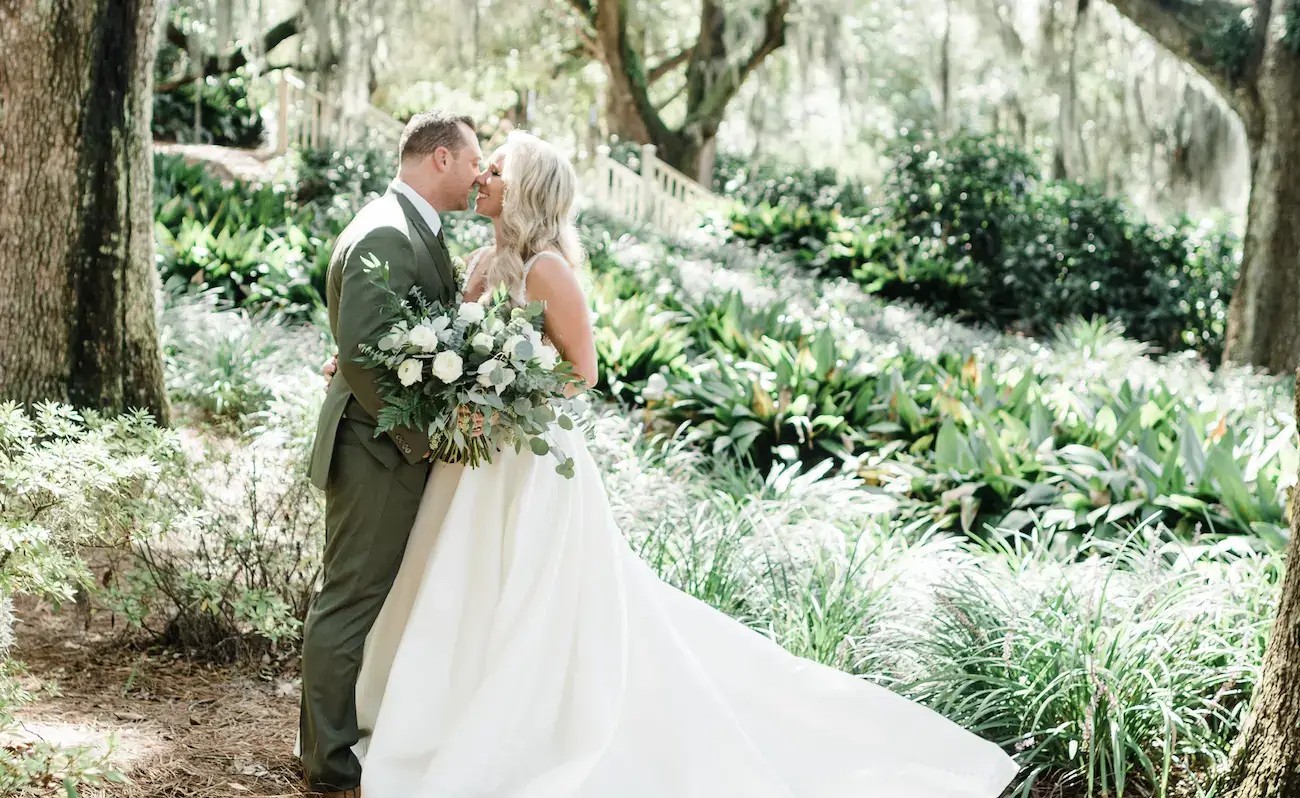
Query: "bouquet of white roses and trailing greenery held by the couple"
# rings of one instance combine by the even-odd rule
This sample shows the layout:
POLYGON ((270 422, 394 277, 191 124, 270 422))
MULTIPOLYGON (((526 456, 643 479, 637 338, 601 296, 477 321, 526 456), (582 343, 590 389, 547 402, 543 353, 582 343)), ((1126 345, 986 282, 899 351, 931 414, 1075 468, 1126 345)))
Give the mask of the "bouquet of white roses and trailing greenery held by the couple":
POLYGON ((552 454, 555 470, 573 477, 573 457, 556 446, 551 425, 573 429, 584 402, 564 395, 578 378, 542 341, 542 303, 512 307, 497 291, 486 303, 458 292, 443 305, 412 289, 396 317, 356 359, 380 372, 380 431, 426 430, 434 459, 471 468, 491 463, 506 446, 528 446, 552 454))

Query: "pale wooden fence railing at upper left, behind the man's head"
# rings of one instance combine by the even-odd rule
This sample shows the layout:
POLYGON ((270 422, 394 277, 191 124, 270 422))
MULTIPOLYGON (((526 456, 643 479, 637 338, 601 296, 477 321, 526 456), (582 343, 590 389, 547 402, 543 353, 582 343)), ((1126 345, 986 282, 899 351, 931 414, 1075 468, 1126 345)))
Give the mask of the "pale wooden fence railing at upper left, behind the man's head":
POLYGON ((386 147, 396 151, 404 125, 367 104, 347 116, 338 103, 307 84, 289 69, 280 70, 276 86, 276 153, 290 147, 386 147))

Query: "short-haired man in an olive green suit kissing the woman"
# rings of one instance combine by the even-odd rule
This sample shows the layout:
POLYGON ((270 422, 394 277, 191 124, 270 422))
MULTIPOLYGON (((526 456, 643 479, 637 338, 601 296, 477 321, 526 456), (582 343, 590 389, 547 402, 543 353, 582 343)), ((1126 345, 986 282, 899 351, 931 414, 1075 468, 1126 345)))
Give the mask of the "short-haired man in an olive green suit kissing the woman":
POLYGON ((361 766, 351 746, 360 737, 361 649, 402 564, 430 467, 420 430, 376 437, 376 374, 355 359, 394 321, 393 295, 419 286, 432 300, 451 302, 456 278, 438 213, 469 207, 482 160, 473 121, 439 110, 407 123, 399 152, 389 191, 361 208, 334 243, 326 282, 338 374, 309 467, 312 483, 325 491, 325 556, 324 584, 303 628, 299 730, 308 789, 339 798, 360 795, 361 766), (367 256, 389 265, 387 285, 374 282, 361 263, 367 256))

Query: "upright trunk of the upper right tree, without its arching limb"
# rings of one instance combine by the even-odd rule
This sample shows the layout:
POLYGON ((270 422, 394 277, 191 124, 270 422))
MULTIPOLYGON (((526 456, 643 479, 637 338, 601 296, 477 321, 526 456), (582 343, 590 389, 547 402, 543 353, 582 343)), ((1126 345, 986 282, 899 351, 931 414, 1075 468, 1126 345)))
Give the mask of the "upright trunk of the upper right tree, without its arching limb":
POLYGON ((1300 367, 1300 56, 1282 43, 1273 16, 1256 83, 1251 203, 1242 277, 1228 308, 1225 359, 1275 373, 1300 367))

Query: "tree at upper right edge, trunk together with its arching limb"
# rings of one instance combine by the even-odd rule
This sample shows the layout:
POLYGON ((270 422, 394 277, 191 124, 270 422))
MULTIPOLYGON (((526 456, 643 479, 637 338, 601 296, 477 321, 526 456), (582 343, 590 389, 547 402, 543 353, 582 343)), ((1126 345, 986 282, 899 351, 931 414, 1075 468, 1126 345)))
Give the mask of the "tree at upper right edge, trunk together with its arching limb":
POLYGON ((1209 81, 1242 118, 1251 201, 1226 357, 1288 373, 1300 367, 1300 3, 1110 3, 1209 81))

